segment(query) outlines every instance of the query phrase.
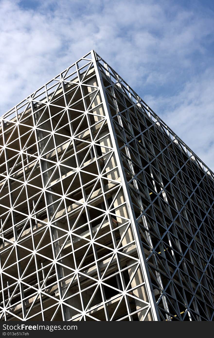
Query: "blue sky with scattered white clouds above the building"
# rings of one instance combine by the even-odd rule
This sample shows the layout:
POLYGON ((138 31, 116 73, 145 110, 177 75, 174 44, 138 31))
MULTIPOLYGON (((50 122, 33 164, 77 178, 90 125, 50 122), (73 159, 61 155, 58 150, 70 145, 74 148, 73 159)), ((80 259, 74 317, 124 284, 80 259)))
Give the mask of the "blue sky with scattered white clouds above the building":
POLYGON ((0 115, 95 49, 214 171, 212 0, 0 0, 0 115))

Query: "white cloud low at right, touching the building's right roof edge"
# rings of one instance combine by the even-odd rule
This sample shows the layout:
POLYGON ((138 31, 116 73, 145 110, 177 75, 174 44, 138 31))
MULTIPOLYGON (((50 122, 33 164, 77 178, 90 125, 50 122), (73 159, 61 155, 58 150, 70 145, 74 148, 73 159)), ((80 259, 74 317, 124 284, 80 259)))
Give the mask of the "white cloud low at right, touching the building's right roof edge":
POLYGON ((145 100, 160 112, 170 128, 203 160, 214 168, 214 69, 187 81, 176 95, 150 96, 145 100))

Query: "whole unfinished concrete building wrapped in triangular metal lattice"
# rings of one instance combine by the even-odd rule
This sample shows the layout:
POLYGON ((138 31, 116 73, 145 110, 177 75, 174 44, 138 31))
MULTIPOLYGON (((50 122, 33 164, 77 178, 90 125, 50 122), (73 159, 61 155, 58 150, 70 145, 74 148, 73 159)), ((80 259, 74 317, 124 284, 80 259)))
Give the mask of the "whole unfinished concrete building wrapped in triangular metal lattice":
POLYGON ((1 117, 1 320, 212 320, 214 174, 91 51, 1 117))

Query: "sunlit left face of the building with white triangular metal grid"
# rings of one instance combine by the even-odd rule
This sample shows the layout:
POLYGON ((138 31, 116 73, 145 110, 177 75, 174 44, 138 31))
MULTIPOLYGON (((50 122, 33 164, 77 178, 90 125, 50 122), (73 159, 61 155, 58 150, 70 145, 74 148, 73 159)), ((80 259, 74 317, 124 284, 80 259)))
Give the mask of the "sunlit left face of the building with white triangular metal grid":
POLYGON ((157 319, 97 74, 92 51, 1 118, 1 320, 157 319))

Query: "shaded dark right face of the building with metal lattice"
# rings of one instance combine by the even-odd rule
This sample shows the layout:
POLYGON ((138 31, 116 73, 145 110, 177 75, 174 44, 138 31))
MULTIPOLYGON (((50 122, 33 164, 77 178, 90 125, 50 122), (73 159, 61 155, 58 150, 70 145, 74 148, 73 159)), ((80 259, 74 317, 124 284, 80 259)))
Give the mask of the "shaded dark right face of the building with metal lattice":
POLYGON ((212 320, 214 174, 97 60, 160 320, 212 320))

